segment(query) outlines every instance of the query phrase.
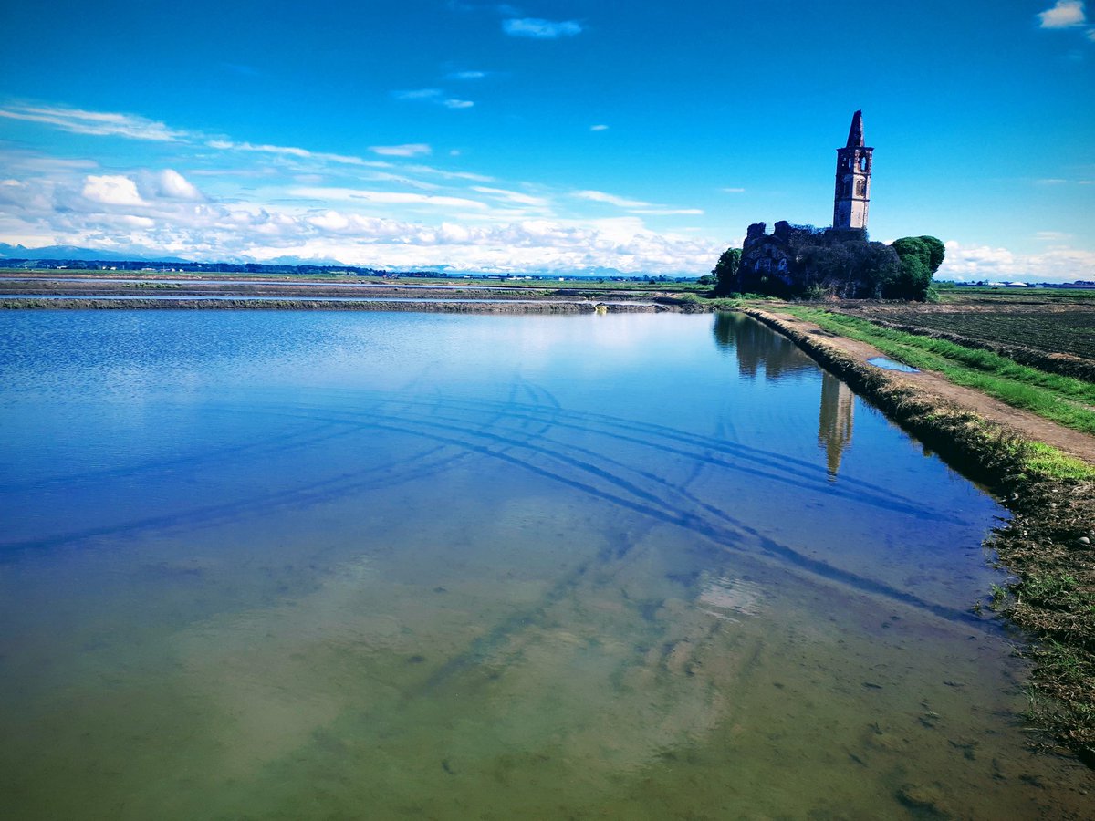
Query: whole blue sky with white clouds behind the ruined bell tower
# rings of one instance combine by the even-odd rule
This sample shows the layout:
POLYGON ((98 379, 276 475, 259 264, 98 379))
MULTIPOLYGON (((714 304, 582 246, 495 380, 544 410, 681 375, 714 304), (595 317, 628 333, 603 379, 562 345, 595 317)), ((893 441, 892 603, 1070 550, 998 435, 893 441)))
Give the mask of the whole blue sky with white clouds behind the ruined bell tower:
POLYGON ((1095 4, 36 0, 0 26, 0 241, 702 274, 829 224, 1095 279, 1095 4))

